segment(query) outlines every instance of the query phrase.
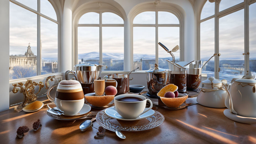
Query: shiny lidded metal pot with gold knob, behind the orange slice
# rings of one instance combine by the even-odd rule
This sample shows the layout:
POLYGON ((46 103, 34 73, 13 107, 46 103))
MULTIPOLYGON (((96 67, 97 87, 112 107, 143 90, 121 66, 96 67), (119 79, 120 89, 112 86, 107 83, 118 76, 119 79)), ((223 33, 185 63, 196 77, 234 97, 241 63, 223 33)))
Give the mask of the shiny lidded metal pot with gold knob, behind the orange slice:
POLYGON ((155 64, 155 68, 146 71, 147 75, 147 88, 149 97, 156 97, 164 86, 170 84, 171 71, 169 69, 159 68, 155 64))

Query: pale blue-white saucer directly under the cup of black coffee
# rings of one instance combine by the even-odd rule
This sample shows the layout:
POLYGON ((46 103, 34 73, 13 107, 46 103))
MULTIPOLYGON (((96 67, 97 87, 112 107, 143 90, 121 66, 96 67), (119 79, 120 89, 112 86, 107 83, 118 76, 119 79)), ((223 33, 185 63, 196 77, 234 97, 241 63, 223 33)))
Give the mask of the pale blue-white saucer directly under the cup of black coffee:
POLYGON ((109 107, 105 110, 105 114, 108 115, 111 118, 114 119, 120 119, 120 120, 140 120, 140 119, 144 119, 144 118, 148 118, 151 117, 155 114, 155 111, 153 109, 150 109, 149 111, 147 111, 146 113, 138 116, 137 118, 134 119, 128 119, 128 118, 123 118, 122 116, 120 116, 118 114, 118 112, 115 109, 115 106, 113 107, 109 107))

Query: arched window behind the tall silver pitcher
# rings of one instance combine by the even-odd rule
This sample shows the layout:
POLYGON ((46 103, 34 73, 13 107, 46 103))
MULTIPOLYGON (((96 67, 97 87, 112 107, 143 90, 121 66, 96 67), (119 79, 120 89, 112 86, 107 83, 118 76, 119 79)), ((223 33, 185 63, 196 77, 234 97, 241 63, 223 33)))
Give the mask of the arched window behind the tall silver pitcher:
POLYGON ((124 21, 110 12, 88 12, 77 24, 78 64, 106 65, 124 70, 124 21))

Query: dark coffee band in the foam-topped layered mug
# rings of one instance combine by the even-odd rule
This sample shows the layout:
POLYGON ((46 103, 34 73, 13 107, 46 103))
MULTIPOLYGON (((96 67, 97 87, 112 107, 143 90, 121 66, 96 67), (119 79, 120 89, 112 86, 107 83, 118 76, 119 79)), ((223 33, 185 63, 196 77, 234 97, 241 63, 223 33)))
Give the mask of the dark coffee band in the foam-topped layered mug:
POLYGON ((56 92, 56 98, 61 100, 80 100, 84 98, 83 91, 78 92, 56 92))

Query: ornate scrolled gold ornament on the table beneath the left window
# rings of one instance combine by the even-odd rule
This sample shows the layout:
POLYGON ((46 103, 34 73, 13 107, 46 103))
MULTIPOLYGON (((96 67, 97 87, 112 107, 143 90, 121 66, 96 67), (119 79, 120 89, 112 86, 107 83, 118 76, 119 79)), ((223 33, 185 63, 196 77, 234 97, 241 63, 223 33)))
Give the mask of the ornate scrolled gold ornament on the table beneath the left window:
POLYGON ((23 93, 24 99, 21 104, 22 107, 30 104, 31 102, 34 102, 37 99, 37 94, 41 91, 41 89, 44 87, 44 84, 40 81, 39 83, 36 83, 35 81, 32 82, 32 80, 26 81, 24 84, 25 88, 23 87, 23 83, 13 84, 13 93, 23 93), (39 86, 38 92, 34 94, 35 92, 35 86, 39 86))

